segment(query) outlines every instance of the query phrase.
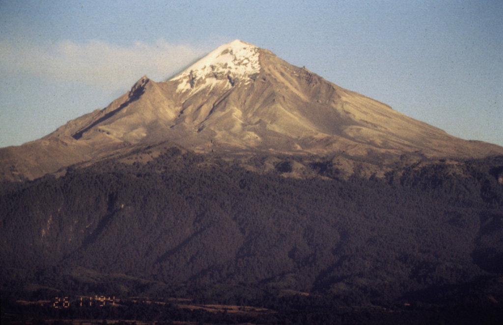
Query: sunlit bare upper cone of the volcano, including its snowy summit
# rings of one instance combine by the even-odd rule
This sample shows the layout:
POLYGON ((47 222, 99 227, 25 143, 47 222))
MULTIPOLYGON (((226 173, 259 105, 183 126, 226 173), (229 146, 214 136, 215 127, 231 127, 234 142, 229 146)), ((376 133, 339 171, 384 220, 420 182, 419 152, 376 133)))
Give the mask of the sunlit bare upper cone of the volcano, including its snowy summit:
POLYGON ((503 154, 502 147, 450 136, 236 40, 169 81, 157 83, 144 76, 106 109, 70 121, 40 140, 0 149, 0 178, 34 179, 124 148, 163 141, 221 154, 260 151, 391 160, 403 154, 503 154))

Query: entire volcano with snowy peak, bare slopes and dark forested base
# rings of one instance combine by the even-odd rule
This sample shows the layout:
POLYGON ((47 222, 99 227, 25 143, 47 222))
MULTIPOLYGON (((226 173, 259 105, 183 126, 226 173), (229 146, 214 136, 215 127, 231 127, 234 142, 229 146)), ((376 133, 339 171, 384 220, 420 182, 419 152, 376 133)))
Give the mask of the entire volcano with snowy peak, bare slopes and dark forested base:
POLYGON ((1 148, 0 225, 2 323, 503 317, 503 147, 239 40, 1 148))

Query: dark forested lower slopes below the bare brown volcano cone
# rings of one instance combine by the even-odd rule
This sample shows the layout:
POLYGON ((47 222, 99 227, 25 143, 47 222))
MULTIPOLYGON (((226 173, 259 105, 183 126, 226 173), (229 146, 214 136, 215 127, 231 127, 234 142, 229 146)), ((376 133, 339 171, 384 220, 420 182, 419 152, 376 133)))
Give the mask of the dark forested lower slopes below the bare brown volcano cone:
MULTIPOLYGON (((284 167, 258 173, 172 147, 147 163, 1 184, 2 308, 65 292, 290 315, 263 323, 309 323, 303 315, 334 306, 501 313, 491 308, 503 303, 503 157, 370 179, 338 178, 333 166, 294 179, 284 167)), ((351 310, 347 323, 361 316, 351 310)))

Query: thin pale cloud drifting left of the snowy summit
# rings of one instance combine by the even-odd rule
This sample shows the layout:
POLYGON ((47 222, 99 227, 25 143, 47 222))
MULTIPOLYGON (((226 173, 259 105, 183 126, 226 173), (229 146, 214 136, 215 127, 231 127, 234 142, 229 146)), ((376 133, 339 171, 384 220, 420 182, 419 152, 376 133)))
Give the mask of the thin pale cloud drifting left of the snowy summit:
POLYGON ((147 75, 161 81, 205 53, 188 45, 159 39, 124 47, 93 40, 61 41, 47 46, 26 41, 0 41, 0 67, 63 82, 82 82, 106 90, 125 89, 147 75))

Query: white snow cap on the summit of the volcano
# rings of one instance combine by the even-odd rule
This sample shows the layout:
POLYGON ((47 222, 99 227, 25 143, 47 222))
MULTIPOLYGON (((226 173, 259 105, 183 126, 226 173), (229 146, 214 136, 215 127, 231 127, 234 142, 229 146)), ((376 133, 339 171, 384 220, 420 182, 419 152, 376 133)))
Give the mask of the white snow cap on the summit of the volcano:
POLYGON ((224 83, 230 88, 235 82, 250 82, 251 75, 260 72, 259 48, 235 40, 221 45, 171 80, 180 80, 178 91, 193 92, 224 83))

